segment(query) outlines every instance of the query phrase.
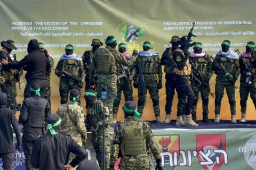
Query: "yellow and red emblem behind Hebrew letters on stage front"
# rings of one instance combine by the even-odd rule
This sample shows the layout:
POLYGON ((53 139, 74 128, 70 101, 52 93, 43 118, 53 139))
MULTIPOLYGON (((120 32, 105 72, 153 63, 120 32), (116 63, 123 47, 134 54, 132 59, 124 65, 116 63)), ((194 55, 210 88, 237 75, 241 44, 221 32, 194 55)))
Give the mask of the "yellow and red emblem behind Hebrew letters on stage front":
MULTIPOLYGON (((179 152, 180 152, 180 136, 179 135, 155 135, 154 136, 159 152, 162 156, 162 164, 164 168, 174 169, 175 166, 178 166, 179 161, 179 152)), ((153 159, 153 155, 151 154, 153 159)))

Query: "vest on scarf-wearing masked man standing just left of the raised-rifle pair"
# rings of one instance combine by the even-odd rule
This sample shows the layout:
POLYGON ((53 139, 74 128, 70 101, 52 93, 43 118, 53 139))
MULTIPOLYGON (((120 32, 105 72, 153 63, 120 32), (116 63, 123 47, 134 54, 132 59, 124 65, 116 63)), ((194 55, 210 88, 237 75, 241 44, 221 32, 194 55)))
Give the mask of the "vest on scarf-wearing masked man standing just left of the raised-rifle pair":
POLYGON ((157 74, 158 73, 158 58, 157 56, 142 57, 138 56, 141 65, 142 74, 157 74))

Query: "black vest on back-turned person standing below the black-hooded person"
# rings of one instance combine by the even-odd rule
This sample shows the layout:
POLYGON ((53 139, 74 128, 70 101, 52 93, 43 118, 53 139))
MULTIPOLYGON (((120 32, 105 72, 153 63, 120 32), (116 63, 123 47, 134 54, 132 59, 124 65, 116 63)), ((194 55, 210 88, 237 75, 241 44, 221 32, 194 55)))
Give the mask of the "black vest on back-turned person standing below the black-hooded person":
POLYGON ((26 98, 29 104, 28 117, 25 123, 25 127, 45 128, 45 107, 48 100, 41 98, 41 100, 35 100, 33 97, 26 98))

